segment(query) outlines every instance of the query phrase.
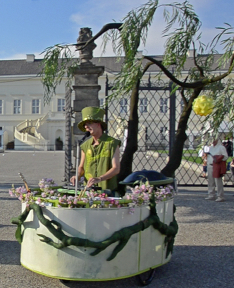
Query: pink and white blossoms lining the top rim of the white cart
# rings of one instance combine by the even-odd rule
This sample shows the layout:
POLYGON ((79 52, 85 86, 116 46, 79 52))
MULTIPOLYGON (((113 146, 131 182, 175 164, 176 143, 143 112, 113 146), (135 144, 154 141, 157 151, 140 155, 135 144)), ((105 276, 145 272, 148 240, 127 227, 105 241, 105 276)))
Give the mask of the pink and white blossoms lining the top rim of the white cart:
POLYGON ((68 195, 66 193, 58 192, 55 189, 56 184, 52 179, 44 178, 39 181, 39 189, 35 191, 27 190, 25 186, 9 189, 11 196, 17 197, 22 203, 26 203, 28 207, 35 203, 41 207, 57 206, 68 208, 111 208, 111 207, 129 207, 129 213, 134 213, 135 207, 149 205, 149 200, 154 194, 155 202, 165 201, 174 195, 174 189, 171 185, 165 187, 154 187, 149 182, 139 182, 134 188, 130 188, 130 192, 126 193, 122 198, 109 197, 102 191, 87 191, 82 197, 68 195), (54 189, 53 189, 54 187, 54 189))

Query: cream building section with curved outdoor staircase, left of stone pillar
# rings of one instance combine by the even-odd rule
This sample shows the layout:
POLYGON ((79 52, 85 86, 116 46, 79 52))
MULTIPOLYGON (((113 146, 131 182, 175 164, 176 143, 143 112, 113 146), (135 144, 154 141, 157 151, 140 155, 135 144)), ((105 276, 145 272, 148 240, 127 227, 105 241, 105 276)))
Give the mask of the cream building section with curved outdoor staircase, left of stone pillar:
POLYGON ((2 145, 15 149, 54 150, 55 140, 65 138, 65 82, 49 105, 43 103, 44 89, 37 77, 41 60, 0 61, 0 132, 2 145))

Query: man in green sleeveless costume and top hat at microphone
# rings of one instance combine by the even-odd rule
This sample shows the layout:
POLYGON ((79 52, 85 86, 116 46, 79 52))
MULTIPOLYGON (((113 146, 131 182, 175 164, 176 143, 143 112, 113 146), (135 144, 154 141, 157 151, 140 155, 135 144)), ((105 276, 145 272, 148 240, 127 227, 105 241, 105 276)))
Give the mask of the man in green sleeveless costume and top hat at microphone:
MULTIPOLYGON (((87 187, 97 184, 101 189, 114 191, 117 188, 117 174, 120 171, 119 147, 121 141, 103 133, 106 123, 103 122, 105 111, 98 107, 82 109, 82 121, 78 127, 92 136, 81 146, 78 179, 85 176, 87 187)), ((71 177, 75 185, 75 176, 71 177)))

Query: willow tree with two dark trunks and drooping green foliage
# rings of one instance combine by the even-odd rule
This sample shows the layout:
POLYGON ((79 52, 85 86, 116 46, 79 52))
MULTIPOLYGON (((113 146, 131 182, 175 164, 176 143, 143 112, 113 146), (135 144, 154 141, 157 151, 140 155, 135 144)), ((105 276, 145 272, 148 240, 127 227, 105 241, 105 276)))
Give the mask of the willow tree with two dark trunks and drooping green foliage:
MULTIPOLYGON (((201 42, 200 29, 201 22, 188 1, 181 4, 174 2, 168 5, 159 5, 159 1, 150 0, 146 4, 130 11, 122 19, 121 23, 105 25, 97 35, 87 42, 79 43, 79 46, 77 46, 78 50, 84 49, 97 37, 104 34, 103 51, 105 51, 106 44, 110 41, 116 56, 120 57, 123 54, 125 56, 111 94, 112 97, 116 98, 131 95, 128 138, 121 160, 119 180, 123 180, 132 172, 133 155, 137 151, 139 85, 142 76, 151 65, 157 65, 160 68, 161 73, 159 73, 158 77, 165 74, 174 83, 173 92, 180 88, 180 94, 184 102, 170 160, 161 171, 166 176, 173 176, 180 165, 184 142, 187 139, 186 128, 192 110, 192 102, 204 89, 206 94, 210 94, 215 100, 216 105, 211 119, 214 120, 216 131, 219 123, 225 118, 227 110, 228 112, 232 111, 230 106, 227 106, 226 110, 221 109, 224 99, 227 98, 226 93, 228 92, 230 97, 233 95, 230 92, 233 80, 229 79, 226 84, 222 83, 222 80, 231 73, 234 65, 234 38, 230 34, 232 27, 229 24, 226 24, 225 28, 220 27, 221 32, 207 45, 201 42), (147 44, 148 29, 156 12, 161 7, 164 8, 163 16, 165 19, 165 29, 162 33, 167 37, 162 61, 144 55, 139 58, 137 53, 139 45, 142 43, 144 45, 147 44), (196 44, 198 48, 196 48, 196 44), (218 62, 216 63, 216 46, 218 44, 224 45, 224 53, 221 57, 218 57, 218 62), (194 49, 194 67, 189 70, 187 76, 183 79, 182 71, 191 47, 194 49), (204 56, 204 54, 206 55, 204 56), (143 65, 145 61, 147 62, 143 65), (171 65, 175 67, 173 74, 170 72, 171 65), (216 68, 214 68, 214 65, 216 65, 216 68), (228 65, 226 72, 220 74, 219 71, 225 69, 225 65, 228 65)), ((46 101, 49 101, 51 92, 54 92, 56 84, 61 81, 67 71, 68 85, 71 82, 73 76, 72 67, 76 66, 77 63, 72 62, 72 57, 68 56, 67 51, 70 51, 69 49, 69 45, 55 45, 46 49, 43 61, 44 68, 42 69, 42 82, 46 88, 46 101), (62 63, 62 67, 59 63, 62 63)), ((157 51, 155 51, 155 55, 157 55, 157 51)))

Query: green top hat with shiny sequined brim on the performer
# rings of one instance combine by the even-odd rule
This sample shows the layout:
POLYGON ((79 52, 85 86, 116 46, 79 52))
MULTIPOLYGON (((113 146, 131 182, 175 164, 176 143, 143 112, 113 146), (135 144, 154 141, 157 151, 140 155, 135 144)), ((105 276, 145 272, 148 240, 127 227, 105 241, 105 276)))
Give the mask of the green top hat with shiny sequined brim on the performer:
POLYGON ((106 130, 107 125, 103 122, 103 116, 105 111, 99 107, 85 107, 81 111, 82 113, 82 121, 78 123, 78 128, 85 132, 85 123, 100 123, 104 130, 106 130))

